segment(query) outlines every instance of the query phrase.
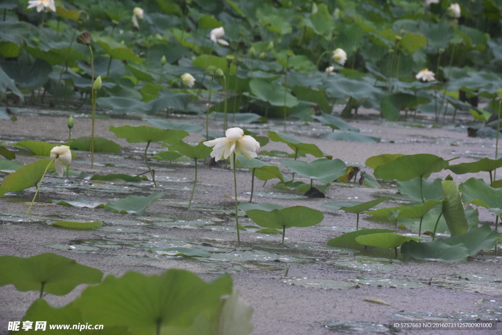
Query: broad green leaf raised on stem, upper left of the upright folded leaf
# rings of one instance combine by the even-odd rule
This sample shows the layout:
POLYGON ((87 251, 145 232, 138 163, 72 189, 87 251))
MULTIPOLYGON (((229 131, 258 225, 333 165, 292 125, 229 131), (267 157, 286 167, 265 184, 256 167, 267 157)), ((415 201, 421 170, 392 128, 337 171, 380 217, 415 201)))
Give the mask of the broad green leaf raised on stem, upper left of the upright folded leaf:
POLYGON ((374 176, 384 180, 407 181, 427 178, 448 166, 448 161, 431 154, 405 155, 375 168, 374 176))

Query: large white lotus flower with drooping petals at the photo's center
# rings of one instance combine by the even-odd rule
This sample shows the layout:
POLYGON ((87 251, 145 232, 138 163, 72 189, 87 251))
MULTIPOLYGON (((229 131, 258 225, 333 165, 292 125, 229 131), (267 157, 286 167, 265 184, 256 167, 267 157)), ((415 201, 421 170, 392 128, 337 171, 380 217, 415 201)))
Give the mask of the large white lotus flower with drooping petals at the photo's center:
POLYGON ((211 157, 216 161, 230 157, 230 164, 233 168, 232 155, 243 155, 247 159, 258 157, 256 151, 260 148, 260 143, 252 136, 244 135, 242 129, 229 128, 226 130, 225 135, 226 137, 204 142, 206 146, 214 147, 211 157))

